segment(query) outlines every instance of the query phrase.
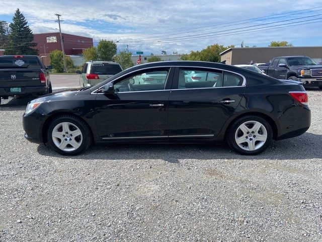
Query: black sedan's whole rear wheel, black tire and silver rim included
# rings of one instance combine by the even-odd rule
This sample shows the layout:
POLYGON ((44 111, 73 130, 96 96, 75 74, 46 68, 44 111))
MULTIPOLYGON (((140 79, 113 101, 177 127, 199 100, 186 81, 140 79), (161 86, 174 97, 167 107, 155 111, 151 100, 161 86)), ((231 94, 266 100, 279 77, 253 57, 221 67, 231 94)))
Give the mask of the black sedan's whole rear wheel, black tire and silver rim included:
POLYGON ((257 115, 236 119, 230 126, 226 137, 230 148, 243 155, 262 153, 270 145, 272 139, 271 125, 257 115))

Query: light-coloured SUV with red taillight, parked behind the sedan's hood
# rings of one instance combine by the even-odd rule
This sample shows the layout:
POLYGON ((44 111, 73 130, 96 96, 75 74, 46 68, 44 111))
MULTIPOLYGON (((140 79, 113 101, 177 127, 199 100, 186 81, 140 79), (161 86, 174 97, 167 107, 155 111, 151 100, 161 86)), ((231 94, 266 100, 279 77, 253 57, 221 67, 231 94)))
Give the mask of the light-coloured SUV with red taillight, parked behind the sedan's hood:
POLYGON ((76 71, 81 74, 79 85, 81 87, 94 86, 106 78, 109 78, 122 71, 120 64, 110 61, 88 61, 84 64, 82 71, 76 71))

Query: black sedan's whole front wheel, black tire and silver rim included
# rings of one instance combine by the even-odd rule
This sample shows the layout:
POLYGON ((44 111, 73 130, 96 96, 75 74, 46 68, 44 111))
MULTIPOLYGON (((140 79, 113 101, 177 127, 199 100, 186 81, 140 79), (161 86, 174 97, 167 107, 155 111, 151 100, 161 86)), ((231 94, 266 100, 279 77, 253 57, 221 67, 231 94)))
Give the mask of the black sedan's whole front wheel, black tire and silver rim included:
POLYGON ((78 155, 92 144, 92 133, 80 118, 71 115, 58 116, 49 125, 48 145, 61 155, 78 155))

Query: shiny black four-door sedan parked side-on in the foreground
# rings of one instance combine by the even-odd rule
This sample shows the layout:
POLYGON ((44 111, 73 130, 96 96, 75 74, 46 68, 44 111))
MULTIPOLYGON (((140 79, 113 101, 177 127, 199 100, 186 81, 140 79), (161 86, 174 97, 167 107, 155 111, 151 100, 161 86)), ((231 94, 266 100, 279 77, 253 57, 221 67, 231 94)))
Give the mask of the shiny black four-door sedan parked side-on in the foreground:
POLYGON ((28 103, 23 115, 25 137, 62 155, 106 142, 227 142, 255 155, 272 139, 299 136, 309 126, 302 85, 188 61, 138 65, 93 87, 48 94, 28 103), (192 72, 205 78, 187 81, 192 72), (149 80, 140 82, 142 75, 149 80))

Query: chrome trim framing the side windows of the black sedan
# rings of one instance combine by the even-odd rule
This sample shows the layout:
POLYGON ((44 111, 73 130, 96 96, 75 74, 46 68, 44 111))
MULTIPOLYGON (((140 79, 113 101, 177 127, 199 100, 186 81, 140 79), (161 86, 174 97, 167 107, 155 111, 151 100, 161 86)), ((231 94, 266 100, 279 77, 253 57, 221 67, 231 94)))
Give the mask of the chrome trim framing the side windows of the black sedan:
MULTIPOLYGON (((147 91, 131 91, 131 93, 133 93, 133 92, 153 92, 153 91, 159 92, 159 91, 171 91, 171 90, 194 90, 194 89, 209 89, 209 88, 231 88, 231 87, 245 87, 246 86, 246 78, 245 78, 244 75, 241 75, 241 74, 236 73, 236 72, 224 70, 224 69, 217 69, 217 68, 215 69, 215 68, 212 68, 212 67, 199 67, 199 66, 159 66, 159 67, 148 67, 148 68, 146 68, 146 70, 148 70, 148 69, 155 69, 155 68, 177 68, 177 67, 178 68, 186 68, 186 69, 187 68, 200 68, 200 69, 203 68, 203 69, 209 69, 209 70, 214 70, 214 71, 217 70, 217 71, 222 71, 222 72, 229 72, 229 73, 233 73, 233 74, 235 74, 235 75, 243 78, 243 83, 240 86, 229 86, 229 87, 203 87, 203 88, 182 88, 182 89, 179 89, 178 88, 178 89, 163 89, 163 90, 151 90, 151 91, 149 91, 149 90, 147 90, 147 91)), ((115 80, 122 79, 124 76, 127 76, 127 75, 129 75, 131 73, 134 73, 134 72, 137 72, 137 71, 139 71, 139 70, 135 70, 135 71, 126 73, 126 74, 118 77, 117 79, 114 79, 114 81, 115 80)), ((167 80, 165 82, 165 86, 166 86, 166 83, 168 81, 168 77, 167 77, 167 80)), ((100 86, 99 88, 95 89, 93 92, 91 92, 91 95, 104 94, 104 93, 98 93, 98 90, 100 88, 102 88, 102 87, 103 87, 103 85, 100 86)), ((116 92, 116 93, 128 93, 128 92, 116 92)))

